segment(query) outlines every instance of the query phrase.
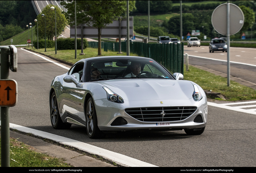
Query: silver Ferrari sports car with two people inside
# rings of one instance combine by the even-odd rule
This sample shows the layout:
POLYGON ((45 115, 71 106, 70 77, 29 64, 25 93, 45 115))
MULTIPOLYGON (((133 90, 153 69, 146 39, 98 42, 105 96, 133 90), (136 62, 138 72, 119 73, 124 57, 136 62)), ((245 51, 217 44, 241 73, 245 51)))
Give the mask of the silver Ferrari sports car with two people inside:
POLYGON ((101 56, 76 62, 50 88, 54 129, 86 127, 90 138, 131 130, 203 133, 206 95, 151 58, 101 56))

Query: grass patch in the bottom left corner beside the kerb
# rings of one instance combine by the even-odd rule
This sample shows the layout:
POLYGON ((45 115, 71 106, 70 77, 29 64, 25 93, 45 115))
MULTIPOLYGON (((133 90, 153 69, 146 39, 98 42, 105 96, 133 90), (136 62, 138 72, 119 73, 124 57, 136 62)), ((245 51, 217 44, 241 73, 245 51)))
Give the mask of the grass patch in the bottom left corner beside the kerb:
MULTIPOLYGON (((0 138, 1 141, 1 138, 0 138)), ((0 143, 1 146, 1 143, 0 143)), ((1 147, 0 147, 1 150, 1 147)), ((0 160, 1 163, 1 160, 0 160)), ((24 143, 10 138, 10 167, 71 167, 64 160, 37 153, 24 143)))

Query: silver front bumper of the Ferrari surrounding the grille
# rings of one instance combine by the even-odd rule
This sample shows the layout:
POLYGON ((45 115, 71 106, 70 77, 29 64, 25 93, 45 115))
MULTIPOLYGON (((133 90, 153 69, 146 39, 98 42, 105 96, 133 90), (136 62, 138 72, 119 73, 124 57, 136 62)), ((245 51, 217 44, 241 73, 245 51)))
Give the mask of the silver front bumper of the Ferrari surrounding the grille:
POLYGON ((188 100, 168 100, 165 104, 159 105, 159 100, 151 101, 124 101, 124 104, 111 103, 105 99, 95 101, 95 109, 97 111, 98 127, 101 131, 131 131, 131 130, 180 130, 180 129, 197 129, 203 128, 207 123, 207 100, 205 97, 201 101, 195 102, 193 99, 188 100), (105 106, 104 106, 105 105, 105 106), (107 105, 107 106, 106 106, 107 105), (196 106, 196 111, 190 117, 182 121, 168 122, 145 122, 139 121, 125 112, 126 108, 134 107, 175 107, 182 105, 196 106), (202 122, 195 123, 194 119, 200 115, 202 122), (111 125, 118 117, 122 117, 127 124, 111 125))

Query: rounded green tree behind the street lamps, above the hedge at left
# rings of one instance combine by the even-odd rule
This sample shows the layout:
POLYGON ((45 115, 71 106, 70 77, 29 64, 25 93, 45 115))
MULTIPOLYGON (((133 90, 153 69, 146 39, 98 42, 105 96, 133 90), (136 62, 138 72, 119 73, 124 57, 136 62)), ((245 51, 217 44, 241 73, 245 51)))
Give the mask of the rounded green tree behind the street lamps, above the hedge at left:
MULTIPOLYGON (((37 16, 37 22, 38 22, 38 35, 39 38, 45 38, 45 22, 46 22, 46 38, 48 40, 53 40, 55 36, 55 11, 51 10, 51 6, 48 5, 45 8, 43 8, 43 11, 41 14, 44 14, 45 17, 42 17, 41 14, 37 16)), ((54 6, 56 9, 56 32, 57 37, 62 33, 62 30, 64 30, 67 20, 64 16, 64 14, 61 13, 60 8, 58 6, 54 6)), ((37 24, 35 25, 35 30, 37 30, 37 24)), ((33 25, 33 26, 34 26, 33 25)), ((37 32, 35 32, 37 34, 37 32)))

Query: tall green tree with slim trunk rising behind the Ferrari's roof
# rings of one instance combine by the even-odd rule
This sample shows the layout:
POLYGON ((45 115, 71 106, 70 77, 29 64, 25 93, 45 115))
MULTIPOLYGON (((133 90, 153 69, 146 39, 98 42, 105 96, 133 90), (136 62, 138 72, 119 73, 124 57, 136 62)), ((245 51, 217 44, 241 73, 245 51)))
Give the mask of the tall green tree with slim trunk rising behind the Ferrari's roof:
MULTIPOLYGON (((74 3, 73 1, 62 2, 62 5, 68 9, 70 16, 70 22, 72 19, 72 6, 67 6, 68 3, 74 3)), ((135 9, 135 1, 129 1, 129 10, 135 9)), ((126 1, 124 0, 87 0, 76 1, 76 14, 82 13, 81 16, 86 22, 89 21, 89 25, 98 29, 98 55, 101 55, 101 29, 105 28, 107 24, 111 24, 113 20, 117 20, 118 17, 126 16, 126 1)), ((77 19, 78 20, 78 19, 77 19)), ((80 19, 78 20, 78 22, 80 19)))

